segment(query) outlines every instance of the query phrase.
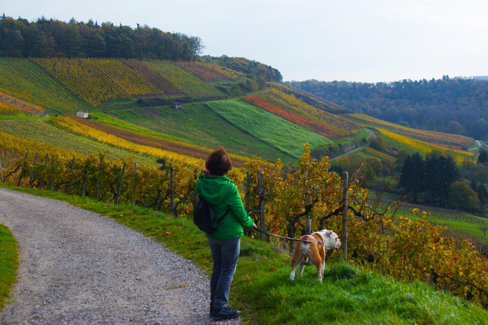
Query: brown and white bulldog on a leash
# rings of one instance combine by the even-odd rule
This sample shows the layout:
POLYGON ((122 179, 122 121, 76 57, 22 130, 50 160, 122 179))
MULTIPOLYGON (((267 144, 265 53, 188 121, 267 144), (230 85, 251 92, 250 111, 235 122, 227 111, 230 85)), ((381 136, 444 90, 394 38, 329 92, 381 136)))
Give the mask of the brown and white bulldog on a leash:
MULTIPOLYGON (((317 268, 317 279, 322 282, 325 268, 325 251, 341 248, 339 236, 332 230, 320 230, 300 237, 302 240, 310 240, 322 243, 309 243, 299 241, 291 258, 290 279, 295 279, 295 268, 298 265, 298 276, 302 276, 305 265, 315 265, 317 268)), ((327 255, 328 256, 328 255, 327 255)))

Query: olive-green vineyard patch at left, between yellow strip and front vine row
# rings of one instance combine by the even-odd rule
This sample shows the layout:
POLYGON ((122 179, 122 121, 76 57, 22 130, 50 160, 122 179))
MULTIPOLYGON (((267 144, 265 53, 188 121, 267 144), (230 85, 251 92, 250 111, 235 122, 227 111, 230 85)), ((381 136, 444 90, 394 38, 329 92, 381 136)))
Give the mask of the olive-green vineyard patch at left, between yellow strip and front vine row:
POLYGON ((95 141, 86 136, 80 136, 58 129, 44 120, 0 121, 0 130, 7 134, 15 134, 47 142, 64 149, 73 149, 81 154, 98 153, 99 150, 102 152, 108 150, 106 156, 113 160, 127 159, 128 156, 134 156, 138 163, 154 165, 156 161, 155 157, 148 157, 140 153, 123 150, 95 141))

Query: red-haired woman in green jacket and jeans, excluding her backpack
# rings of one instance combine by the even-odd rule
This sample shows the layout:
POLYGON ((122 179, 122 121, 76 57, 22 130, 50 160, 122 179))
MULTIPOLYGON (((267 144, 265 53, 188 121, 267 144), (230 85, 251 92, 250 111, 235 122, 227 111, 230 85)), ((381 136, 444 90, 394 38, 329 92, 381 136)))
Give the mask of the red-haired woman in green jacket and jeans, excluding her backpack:
POLYGON ((256 227, 244 210, 237 187, 224 175, 232 169, 224 147, 210 153, 205 160, 205 169, 195 185, 197 194, 210 203, 215 218, 219 219, 228 210, 212 234, 207 233, 207 243, 212 253, 212 275, 210 276, 210 315, 214 320, 231 319, 239 316, 239 310, 227 306, 230 284, 236 272, 241 247, 243 227, 256 227))

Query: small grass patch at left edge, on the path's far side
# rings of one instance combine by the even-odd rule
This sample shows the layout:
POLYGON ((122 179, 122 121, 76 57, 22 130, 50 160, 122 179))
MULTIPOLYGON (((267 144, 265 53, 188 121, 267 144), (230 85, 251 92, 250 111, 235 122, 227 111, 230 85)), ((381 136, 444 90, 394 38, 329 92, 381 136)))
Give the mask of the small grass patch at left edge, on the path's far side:
POLYGON ((17 241, 9 229, 0 224, 0 309, 5 306, 10 287, 15 283, 18 257, 17 241))

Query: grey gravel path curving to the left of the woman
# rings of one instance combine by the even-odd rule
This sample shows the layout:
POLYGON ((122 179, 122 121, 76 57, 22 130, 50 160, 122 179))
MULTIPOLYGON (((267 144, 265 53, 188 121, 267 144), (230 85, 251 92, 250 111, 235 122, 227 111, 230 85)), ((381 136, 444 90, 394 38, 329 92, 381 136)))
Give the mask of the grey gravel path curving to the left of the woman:
POLYGON ((0 324, 224 323, 208 316, 200 268, 114 220, 0 189, 0 223, 20 254, 0 324))

